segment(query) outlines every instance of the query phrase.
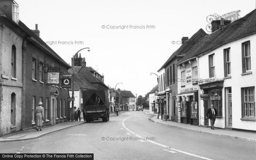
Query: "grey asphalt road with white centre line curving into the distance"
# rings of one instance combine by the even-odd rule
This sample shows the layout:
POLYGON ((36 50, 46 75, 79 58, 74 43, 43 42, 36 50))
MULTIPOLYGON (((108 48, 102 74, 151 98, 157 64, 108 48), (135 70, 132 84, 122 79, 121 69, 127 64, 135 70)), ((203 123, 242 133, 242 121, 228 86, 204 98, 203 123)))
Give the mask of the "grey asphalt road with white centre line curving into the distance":
POLYGON ((84 123, 37 140, 0 143, 0 152, 94 153, 95 160, 255 159, 253 142, 168 127, 150 117, 144 112, 125 112, 110 117, 109 122, 84 123))

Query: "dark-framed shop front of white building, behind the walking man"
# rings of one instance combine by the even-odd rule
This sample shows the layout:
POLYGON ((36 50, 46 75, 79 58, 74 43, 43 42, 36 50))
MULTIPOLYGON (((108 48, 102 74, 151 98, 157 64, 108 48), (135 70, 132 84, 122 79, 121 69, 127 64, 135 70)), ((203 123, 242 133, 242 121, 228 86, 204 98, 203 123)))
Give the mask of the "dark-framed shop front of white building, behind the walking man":
MULTIPOLYGON (((199 84, 200 89, 203 91, 203 94, 200 95, 200 99, 203 100, 204 105, 204 117, 207 113, 208 108, 213 107, 217 109, 217 119, 223 119, 222 113, 222 88, 223 81, 214 81, 211 83, 199 84)), ((218 124, 218 122, 215 122, 218 124)), ((209 126, 209 121, 204 121, 204 125, 209 126)))

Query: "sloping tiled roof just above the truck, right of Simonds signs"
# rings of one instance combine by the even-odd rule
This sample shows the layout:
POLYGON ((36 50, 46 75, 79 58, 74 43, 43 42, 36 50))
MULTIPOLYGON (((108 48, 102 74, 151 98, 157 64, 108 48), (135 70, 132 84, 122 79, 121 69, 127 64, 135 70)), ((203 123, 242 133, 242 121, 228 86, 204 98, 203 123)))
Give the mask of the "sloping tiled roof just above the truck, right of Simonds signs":
POLYGON ((74 90, 82 89, 98 89, 92 83, 90 83, 85 76, 78 73, 74 74, 74 90))

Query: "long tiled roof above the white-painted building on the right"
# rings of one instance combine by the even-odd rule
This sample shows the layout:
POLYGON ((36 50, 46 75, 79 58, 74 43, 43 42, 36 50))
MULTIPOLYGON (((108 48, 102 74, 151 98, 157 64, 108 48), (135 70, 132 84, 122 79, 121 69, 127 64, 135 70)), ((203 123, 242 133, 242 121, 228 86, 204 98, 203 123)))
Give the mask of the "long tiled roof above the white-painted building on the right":
POLYGON ((194 45, 185 57, 181 58, 177 64, 188 61, 189 59, 199 56, 200 54, 210 52, 223 45, 237 41, 244 37, 256 34, 256 9, 244 17, 220 28, 217 31, 200 39, 200 43, 194 45))

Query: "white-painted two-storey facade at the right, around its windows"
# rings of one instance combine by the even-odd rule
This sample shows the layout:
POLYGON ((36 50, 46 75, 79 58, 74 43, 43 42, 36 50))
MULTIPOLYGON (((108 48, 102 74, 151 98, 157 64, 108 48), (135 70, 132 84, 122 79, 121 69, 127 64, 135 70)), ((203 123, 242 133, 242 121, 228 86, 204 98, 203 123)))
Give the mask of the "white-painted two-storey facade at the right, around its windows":
MULTIPOLYGON (((229 115, 228 115, 228 103, 227 103, 227 87, 231 88, 231 127, 234 129, 245 129, 245 130, 256 130, 256 118, 255 118, 255 86, 256 86, 256 35, 251 35, 249 37, 239 39, 223 45, 211 52, 199 57, 199 77, 200 79, 209 78, 209 55, 214 54, 215 60, 215 77, 216 79, 223 79, 223 88, 222 88, 222 117, 216 119, 216 127, 225 128, 228 127, 229 115), (251 52, 251 71, 248 71, 249 74, 242 75, 242 43, 250 41, 250 52, 251 52), (231 61, 231 74, 230 76, 224 76, 224 49, 230 47, 230 61, 231 61), (244 87, 253 87, 254 93, 254 116, 244 118, 242 111, 242 88, 244 87), (243 119, 244 118, 244 119, 243 119)), ((180 85, 178 85, 180 86, 180 85)), ((205 117, 206 113, 204 110, 203 100, 200 100, 200 113, 201 117, 205 117)), ((200 119, 200 123, 204 124, 204 119, 200 119)))

